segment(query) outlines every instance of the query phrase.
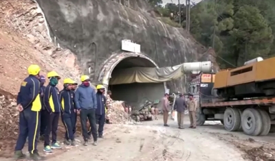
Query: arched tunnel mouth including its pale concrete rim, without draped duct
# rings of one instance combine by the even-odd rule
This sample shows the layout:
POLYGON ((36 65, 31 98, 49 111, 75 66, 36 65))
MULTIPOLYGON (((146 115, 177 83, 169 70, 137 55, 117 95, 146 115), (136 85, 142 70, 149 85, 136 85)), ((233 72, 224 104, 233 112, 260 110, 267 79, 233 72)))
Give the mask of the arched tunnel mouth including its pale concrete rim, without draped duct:
POLYGON ((114 100, 125 101, 129 106, 139 108, 145 101, 155 101, 164 95, 165 83, 133 83, 133 84, 109 84, 111 76, 116 69, 126 69, 131 67, 158 67, 148 56, 140 53, 120 53, 109 58, 104 64, 99 81, 112 91, 114 100), (111 63, 110 63, 111 62, 111 63), (108 67, 106 67, 108 66, 108 67))

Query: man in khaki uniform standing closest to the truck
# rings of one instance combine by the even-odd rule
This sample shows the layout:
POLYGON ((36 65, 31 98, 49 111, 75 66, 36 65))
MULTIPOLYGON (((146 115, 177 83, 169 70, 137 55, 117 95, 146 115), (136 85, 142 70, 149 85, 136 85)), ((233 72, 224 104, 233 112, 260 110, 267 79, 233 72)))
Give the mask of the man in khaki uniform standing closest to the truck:
POLYGON ((188 111, 189 111, 189 118, 190 118, 190 127, 191 129, 195 129, 197 125, 196 119, 196 110, 197 110, 197 103, 193 97, 193 95, 189 95, 188 100, 188 111))

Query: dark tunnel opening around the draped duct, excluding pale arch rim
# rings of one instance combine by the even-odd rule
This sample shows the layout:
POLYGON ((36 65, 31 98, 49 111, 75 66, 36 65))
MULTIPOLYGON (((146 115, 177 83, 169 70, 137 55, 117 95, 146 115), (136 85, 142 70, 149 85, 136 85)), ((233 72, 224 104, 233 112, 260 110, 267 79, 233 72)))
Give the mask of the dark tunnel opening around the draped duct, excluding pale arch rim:
MULTIPOLYGON (((151 60, 139 56, 124 58, 111 72, 111 79, 115 77, 118 69, 133 67, 157 67, 151 60)), ((125 75, 127 77, 127 75, 125 75)), ((164 83, 132 83, 132 84, 109 84, 114 100, 125 101, 127 105, 139 108, 145 101, 155 101, 164 95, 164 83)))

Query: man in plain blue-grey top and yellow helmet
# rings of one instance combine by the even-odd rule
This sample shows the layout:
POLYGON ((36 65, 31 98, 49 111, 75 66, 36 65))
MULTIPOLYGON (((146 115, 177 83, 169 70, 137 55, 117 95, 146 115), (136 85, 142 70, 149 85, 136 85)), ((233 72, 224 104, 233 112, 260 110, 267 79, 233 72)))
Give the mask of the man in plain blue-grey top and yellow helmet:
POLYGON ((97 130, 96 130, 96 108, 97 101, 96 101, 96 90, 91 88, 90 86, 90 79, 87 75, 81 76, 80 86, 76 89, 74 101, 76 103, 76 108, 78 112, 80 112, 80 122, 82 127, 82 134, 84 138, 84 145, 88 145, 89 134, 87 131, 87 118, 89 120, 91 126, 91 134, 94 138, 94 145, 97 144, 97 130))

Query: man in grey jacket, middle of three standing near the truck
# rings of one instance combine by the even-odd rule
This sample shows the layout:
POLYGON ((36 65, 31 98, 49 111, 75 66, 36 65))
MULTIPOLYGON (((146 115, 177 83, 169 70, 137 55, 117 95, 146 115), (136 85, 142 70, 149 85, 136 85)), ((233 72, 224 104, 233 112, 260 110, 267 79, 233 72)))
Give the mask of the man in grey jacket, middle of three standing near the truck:
POLYGON ((177 124, 179 129, 184 129, 184 111, 187 108, 187 102, 184 98, 184 95, 179 94, 179 98, 176 99, 174 110, 177 110, 177 124))

